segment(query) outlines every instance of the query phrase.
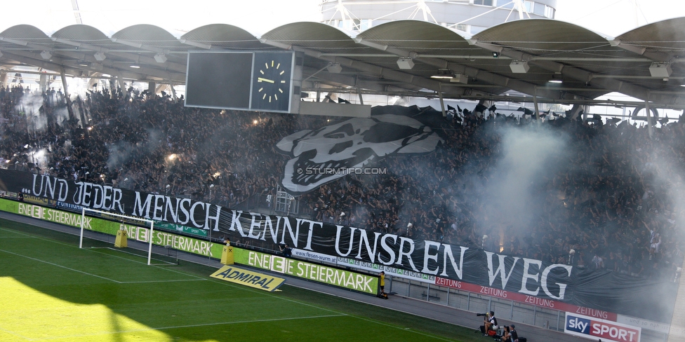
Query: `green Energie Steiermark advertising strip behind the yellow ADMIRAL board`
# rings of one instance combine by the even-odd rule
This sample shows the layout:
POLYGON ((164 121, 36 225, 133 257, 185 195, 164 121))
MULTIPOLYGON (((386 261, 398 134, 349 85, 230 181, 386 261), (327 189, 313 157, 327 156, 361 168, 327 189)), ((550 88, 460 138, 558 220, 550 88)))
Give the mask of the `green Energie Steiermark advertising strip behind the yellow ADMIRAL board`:
POLYGON ((354 291, 367 294, 378 294, 378 277, 372 275, 311 264, 305 261, 241 248, 234 248, 233 256, 237 264, 314 280, 315 282, 322 282, 328 285, 345 287, 346 289, 353 289, 354 291))

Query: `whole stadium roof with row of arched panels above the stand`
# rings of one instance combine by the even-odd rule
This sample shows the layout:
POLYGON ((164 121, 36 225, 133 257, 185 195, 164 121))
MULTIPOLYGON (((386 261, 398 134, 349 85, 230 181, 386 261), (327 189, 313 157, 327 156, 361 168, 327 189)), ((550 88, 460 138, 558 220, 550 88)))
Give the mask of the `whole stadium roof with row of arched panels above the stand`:
POLYGON ((180 84, 191 50, 292 49, 305 54, 305 91, 526 102, 536 95, 539 102, 562 104, 612 103, 593 99, 618 92, 685 109, 683 27, 685 18, 675 18, 613 38, 540 19, 505 22, 474 36, 418 20, 359 34, 296 22, 260 37, 224 24, 176 37, 154 25, 126 27, 112 36, 88 25, 51 36, 17 25, 0 32, 0 65, 2 72, 23 64, 67 76, 180 84), (400 57, 411 62, 401 68, 400 57), (331 63, 339 63, 342 72, 328 71, 331 63), (455 78, 431 78, 439 73, 455 78), (524 96, 505 96, 506 90, 524 96))

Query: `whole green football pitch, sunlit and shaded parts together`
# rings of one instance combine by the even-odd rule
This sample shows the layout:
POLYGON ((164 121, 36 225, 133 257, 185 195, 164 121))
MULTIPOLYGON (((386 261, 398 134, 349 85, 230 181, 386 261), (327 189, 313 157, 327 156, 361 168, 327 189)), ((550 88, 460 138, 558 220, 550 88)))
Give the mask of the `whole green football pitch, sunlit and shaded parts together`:
POLYGON ((78 242, 0 219, 0 341, 483 341, 287 283, 263 292, 210 278, 209 266, 147 266, 78 242))

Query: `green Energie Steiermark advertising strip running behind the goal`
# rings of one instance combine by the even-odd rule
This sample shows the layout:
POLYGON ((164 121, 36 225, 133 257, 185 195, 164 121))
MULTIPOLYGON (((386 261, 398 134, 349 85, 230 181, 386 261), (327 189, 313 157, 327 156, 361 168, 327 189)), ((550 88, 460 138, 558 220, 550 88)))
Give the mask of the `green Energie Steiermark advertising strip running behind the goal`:
MULTIPOLYGON (((13 200, 6 200, 0 198, 0 210, 11 212, 13 214, 20 214, 35 219, 54 222, 56 224, 64 224, 76 228, 81 228, 81 215, 73 212, 63 212, 48 207, 41 207, 40 205, 33 205, 29 203, 21 203, 13 200)), ((141 242, 149 242, 149 228, 131 226, 128 224, 121 224, 119 222, 107 221, 105 219, 98 219, 97 217, 86 217, 84 221, 84 228, 91 231, 106 233, 109 235, 117 235, 119 229, 126 229, 128 238, 135 239, 141 242)), ((194 238, 187 238, 181 235, 167 233, 166 231, 154 231, 152 234, 152 244, 159 246, 171 246, 173 249, 178 249, 183 252, 203 255, 205 257, 221 258, 223 250, 222 244, 215 244, 213 242, 198 240, 194 238)))

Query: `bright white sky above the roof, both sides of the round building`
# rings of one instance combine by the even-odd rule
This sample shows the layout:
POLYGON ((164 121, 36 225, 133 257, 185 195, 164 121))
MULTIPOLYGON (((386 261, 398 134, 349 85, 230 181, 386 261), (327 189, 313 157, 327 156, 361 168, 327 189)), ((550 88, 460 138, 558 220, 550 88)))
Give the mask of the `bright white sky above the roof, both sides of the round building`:
MULTIPOLYGON (((157 25, 174 36, 181 36, 191 29, 215 23, 235 25, 260 36, 288 22, 318 22, 321 18, 318 6, 321 0, 77 1, 83 23, 108 36, 136 24, 157 25)), ((50 35, 76 24, 71 0, 4 1, 0 8, 4 13, 0 32, 14 25, 28 24, 50 35)), ((557 0, 557 20, 608 36, 675 17, 685 17, 685 1, 557 0)))

